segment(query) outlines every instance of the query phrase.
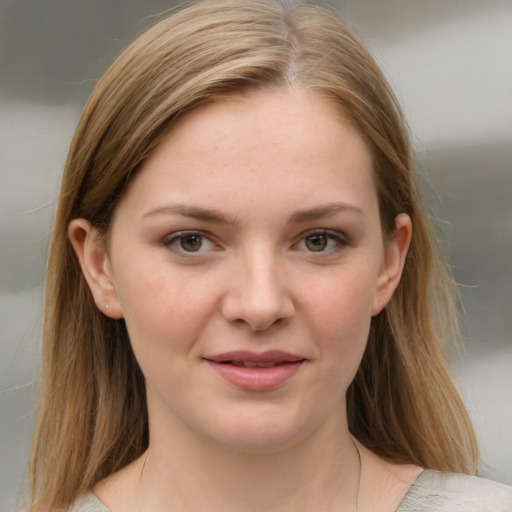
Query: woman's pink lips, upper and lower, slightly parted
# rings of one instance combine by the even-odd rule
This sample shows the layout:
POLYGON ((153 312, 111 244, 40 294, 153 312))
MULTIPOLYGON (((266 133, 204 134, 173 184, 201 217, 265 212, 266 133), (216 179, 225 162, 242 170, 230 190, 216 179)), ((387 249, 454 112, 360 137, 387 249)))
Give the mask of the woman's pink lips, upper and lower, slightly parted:
POLYGON ((240 389, 246 391, 270 391, 282 386, 301 368, 303 357, 269 350, 256 353, 249 351, 233 351, 216 354, 204 358, 220 377, 240 389), (237 363, 276 363, 270 367, 237 366, 237 363))

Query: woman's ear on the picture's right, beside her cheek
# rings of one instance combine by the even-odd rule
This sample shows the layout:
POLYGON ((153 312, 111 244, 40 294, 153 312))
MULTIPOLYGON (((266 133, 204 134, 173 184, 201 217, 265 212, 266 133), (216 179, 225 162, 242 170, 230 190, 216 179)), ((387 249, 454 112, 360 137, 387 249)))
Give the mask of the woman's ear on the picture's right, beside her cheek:
POLYGON ((372 316, 378 315, 386 307, 400 282, 411 236, 411 218, 405 213, 397 215, 395 231, 387 242, 382 269, 377 280, 372 316))

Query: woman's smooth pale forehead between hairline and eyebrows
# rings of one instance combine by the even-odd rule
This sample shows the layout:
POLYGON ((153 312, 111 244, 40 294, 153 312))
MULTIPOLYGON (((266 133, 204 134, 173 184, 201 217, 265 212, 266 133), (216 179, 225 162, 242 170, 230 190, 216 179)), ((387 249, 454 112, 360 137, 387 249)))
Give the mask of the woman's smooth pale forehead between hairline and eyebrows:
POLYGON ((241 198, 239 206, 253 198, 318 203, 348 195, 365 203, 375 194, 371 153, 358 131, 320 95, 280 89, 228 97, 185 114, 127 196, 138 203, 176 196, 221 201, 227 208, 241 198))

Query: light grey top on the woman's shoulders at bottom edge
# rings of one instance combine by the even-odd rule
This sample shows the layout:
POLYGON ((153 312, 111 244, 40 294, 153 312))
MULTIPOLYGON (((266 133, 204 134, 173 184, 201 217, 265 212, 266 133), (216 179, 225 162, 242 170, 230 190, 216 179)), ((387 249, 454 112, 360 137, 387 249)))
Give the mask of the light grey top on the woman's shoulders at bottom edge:
MULTIPOLYGON (((69 512, 111 512, 93 493, 69 512)), ((377 512, 377 511, 376 511, 377 512)), ((425 470, 396 512, 512 512, 512 487, 475 476, 425 470)))

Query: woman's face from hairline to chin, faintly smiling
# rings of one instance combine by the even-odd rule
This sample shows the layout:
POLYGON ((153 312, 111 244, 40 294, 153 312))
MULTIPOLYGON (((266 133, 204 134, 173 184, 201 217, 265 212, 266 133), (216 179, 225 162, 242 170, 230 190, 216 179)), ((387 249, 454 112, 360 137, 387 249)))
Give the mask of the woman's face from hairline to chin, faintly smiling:
POLYGON ((251 92, 186 115, 89 258, 96 302, 126 321, 152 440, 261 451, 346 431, 407 220, 385 251, 370 152, 320 97, 251 92))

